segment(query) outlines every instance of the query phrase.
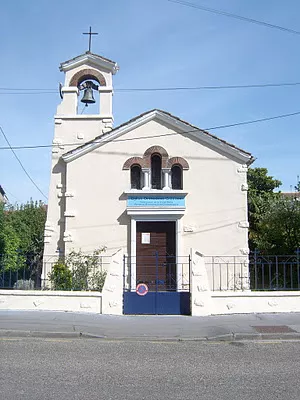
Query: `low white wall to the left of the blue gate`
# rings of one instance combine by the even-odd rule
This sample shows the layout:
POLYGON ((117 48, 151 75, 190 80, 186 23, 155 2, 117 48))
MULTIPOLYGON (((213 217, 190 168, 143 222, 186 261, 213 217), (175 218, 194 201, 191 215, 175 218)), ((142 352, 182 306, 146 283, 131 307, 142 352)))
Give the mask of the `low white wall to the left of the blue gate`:
POLYGON ((0 310, 80 311, 101 314, 102 294, 48 290, 0 290, 0 310))

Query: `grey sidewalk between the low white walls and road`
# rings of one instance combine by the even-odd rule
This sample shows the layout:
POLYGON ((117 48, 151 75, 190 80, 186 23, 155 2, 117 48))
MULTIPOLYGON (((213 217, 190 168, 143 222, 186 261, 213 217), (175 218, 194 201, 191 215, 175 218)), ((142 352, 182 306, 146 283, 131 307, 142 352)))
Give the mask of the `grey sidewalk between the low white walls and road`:
POLYGON ((300 339, 300 313, 177 317, 0 311, 0 337, 11 336, 127 340, 295 340, 300 339))

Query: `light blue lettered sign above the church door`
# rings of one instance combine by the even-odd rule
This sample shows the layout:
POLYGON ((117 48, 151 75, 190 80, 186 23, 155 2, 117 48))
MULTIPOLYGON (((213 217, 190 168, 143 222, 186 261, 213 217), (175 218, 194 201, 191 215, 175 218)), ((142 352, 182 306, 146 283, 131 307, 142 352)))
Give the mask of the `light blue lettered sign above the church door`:
POLYGON ((185 196, 128 196, 127 207, 185 207, 185 196))

